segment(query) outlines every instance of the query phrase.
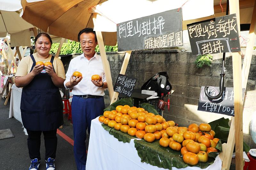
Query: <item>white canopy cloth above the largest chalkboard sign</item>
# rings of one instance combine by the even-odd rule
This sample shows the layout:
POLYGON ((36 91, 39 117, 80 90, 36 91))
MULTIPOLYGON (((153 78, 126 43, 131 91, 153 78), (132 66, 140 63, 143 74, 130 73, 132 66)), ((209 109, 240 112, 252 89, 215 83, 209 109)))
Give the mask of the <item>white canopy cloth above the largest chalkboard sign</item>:
POLYGON ((214 14, 213 0, 109 0, 92 7, 92 12, 99 14, 94 22, 94 30, 116 32, 116 24, 118 23, 179 8, 182 8, 183 20, 214 14), (123 5, 125 8, 122 7, 123 5), (132 12, 130 12, 131 9, 132 12))

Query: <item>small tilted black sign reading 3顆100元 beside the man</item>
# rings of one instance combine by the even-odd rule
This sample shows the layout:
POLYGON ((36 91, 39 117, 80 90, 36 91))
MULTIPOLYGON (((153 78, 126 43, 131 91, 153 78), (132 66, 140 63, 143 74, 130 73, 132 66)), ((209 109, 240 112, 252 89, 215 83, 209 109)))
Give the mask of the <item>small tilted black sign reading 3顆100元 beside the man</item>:
POLYGON ((119 74, 116 79, 114 91, 131 97, 133 88, 136 84, 137 79, 123 74, 119 74))

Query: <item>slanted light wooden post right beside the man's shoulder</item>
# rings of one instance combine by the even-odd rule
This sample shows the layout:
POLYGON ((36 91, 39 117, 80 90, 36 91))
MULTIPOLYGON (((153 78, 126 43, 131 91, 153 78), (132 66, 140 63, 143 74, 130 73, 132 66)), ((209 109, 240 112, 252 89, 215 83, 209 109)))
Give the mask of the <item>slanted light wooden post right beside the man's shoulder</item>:
MULTIPOLYGON (((97 17, 97 13, 93 13, 93 18, 92 18, 93 21, 95 21, 96 17, 97 17)), ((109 66, 109 63, 108 63, 108 59, 107 59, 107 55, 106 55, 106 51, 105 51, 105 46, 104 46, 104 42, 103 42, 103 38, 102 38, 102 33, 100 31, 96 31, 96 36, 97 36, 98 45, 99 45, 99 48, 100 48, 100 56, 101 56, 101 59, 102 59, 104 72, 105 72, 107 83, 108 83, 109 96, 110 96, 110 99, 112 99, 114 89, 113 89, 113 84, 112 84, 110 66, 109 66)))

